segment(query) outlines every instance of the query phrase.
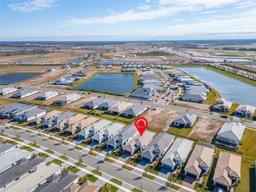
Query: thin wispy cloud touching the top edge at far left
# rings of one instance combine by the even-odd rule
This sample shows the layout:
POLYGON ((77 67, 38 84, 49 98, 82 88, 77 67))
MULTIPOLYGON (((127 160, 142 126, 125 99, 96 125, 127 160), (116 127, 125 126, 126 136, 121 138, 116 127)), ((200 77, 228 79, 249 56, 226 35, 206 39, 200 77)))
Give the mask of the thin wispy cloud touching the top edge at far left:
POLYGON ((38 10, 46 10, 54 6, 55 2, 58 0, 34 0, 25 1, 22 3, 9 4, 9 7, 14 11, 19 12, 32 12, 38 10))

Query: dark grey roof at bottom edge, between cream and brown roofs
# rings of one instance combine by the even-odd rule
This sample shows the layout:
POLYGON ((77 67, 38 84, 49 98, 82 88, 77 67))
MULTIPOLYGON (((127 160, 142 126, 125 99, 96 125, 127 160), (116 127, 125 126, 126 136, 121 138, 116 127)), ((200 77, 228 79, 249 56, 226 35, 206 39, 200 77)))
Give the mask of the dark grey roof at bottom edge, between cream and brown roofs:
POLYGON ((47 182, 36 188, 34 192, 61 192, 77 178, 78 175, 70 171, 61 176, 53 174, 51 177, 47 178, 47 182))

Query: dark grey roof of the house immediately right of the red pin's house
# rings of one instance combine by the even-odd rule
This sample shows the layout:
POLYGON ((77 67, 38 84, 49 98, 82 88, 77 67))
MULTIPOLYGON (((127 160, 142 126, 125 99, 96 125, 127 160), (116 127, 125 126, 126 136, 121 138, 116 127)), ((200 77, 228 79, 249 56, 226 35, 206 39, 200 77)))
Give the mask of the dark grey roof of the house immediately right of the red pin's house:
POLYGON ((174 135, 161 132, 142 151, 141 156, 151 159, 152 157, 154 157, 156 151, 159 154, 163 153, 163 151, 170 145, 170 143, 172 143, 173 140, 174 135))

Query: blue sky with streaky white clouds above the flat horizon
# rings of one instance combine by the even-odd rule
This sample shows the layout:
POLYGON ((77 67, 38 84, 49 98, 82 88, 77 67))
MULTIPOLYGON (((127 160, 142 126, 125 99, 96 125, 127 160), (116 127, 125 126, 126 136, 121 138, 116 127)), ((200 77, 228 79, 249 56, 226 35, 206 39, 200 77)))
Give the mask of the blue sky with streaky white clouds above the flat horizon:
POLYGON ((1 0, 1 41, 256 38, 253 0, 1 0))

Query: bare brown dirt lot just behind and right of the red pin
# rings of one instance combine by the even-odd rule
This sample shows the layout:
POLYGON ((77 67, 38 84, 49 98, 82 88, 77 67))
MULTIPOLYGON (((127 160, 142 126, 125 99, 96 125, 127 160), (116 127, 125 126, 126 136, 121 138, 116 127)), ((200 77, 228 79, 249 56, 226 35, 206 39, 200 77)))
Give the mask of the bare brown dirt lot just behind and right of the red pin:
POLYGON ((148 120, 148 127, 158 131, 167 131, 180 113, 177 111, 157 108, 156 110, 150 109, 143 115, 148 120))

